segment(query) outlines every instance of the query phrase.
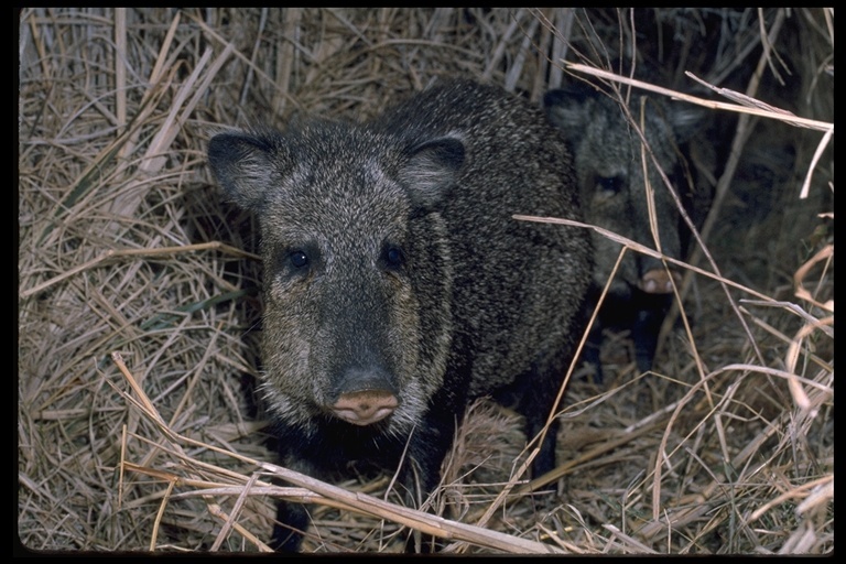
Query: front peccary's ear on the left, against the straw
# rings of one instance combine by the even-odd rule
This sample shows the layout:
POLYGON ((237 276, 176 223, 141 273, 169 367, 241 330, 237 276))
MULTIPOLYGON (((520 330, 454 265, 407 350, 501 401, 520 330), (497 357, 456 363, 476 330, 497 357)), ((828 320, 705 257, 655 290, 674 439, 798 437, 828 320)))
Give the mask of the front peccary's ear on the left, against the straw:
POLYGON ((220 133, 208 143, 208 164, 226 195, 243 208, 263 200, 279 167, 279 142, 268 134, 220 133))

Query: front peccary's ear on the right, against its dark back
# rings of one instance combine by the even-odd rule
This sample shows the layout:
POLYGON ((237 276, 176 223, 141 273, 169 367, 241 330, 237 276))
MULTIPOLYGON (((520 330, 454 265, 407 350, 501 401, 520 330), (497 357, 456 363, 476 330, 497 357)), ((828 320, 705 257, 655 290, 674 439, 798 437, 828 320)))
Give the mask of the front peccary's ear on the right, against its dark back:
POLYGON ((465 149, 460 138, 453 134, 424 141, 405 153, 400 181, 410 188, 414 202, 431 207, 458 180, 465 149))

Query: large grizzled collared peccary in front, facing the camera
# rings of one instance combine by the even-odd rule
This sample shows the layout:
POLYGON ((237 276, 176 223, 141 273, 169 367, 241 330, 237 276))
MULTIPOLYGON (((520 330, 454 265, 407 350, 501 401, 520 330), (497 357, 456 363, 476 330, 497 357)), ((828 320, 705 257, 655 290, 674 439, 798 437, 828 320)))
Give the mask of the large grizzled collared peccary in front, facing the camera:
MULTIPOLYGON (((592 269, 586 230, 511 217, 582 218, 540 108, 451 80, 366 123, 220 133, 208 161, 261 226, 262 386, 283 464, 399 467, 425 496, 470 399, 510 402, 539 433, 592 269)), ((534 473, 553 467, 556 429, 534 473)), ((276 547, 297 550, 305 508, 283 502, 279 521, 276 547)))

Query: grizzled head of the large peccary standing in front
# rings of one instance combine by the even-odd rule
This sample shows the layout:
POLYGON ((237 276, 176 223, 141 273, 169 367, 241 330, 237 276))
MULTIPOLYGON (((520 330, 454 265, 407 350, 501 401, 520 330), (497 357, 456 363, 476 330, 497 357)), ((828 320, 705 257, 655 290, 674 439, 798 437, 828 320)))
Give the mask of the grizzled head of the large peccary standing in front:
POLYGON ((208 155, 261 225, 269 404, 306 435, 332 417, 408 433, 443 383, 452 280, 436 209, 462 140, 319 122, 221 133, 208 155))

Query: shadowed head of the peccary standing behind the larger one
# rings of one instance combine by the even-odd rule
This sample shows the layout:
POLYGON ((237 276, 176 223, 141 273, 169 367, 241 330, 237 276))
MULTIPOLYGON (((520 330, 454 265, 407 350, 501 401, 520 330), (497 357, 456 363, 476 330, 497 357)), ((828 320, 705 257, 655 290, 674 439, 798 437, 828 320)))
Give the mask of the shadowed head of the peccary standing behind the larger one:
MULTIPOLYGON (((684 200, 694 189, 686 174, 684 144, 702 127, 704 113, 659 97, 632 95, 632 118, 642 129, 660 169, 684 200)), ((660 250, 681 259, 680 216, 665 182, 622 108, 606 94, 584 87, 551 90, 544 97, 550 120, 558 126, 574 153, 574 164, 588 223, 655 248, 650 227, 647 183, 654 191, 660 250), (647 172, 644 173, 644 166, 647 172)), ((619 256, 620 245, 594 234, 594 283, 603 288, 619 256)), ((620 296, 638 288, 647 293, 672 291, 661 261, 629 251, 610 292, 620 296)))

